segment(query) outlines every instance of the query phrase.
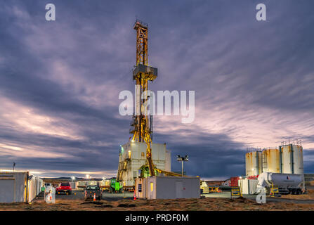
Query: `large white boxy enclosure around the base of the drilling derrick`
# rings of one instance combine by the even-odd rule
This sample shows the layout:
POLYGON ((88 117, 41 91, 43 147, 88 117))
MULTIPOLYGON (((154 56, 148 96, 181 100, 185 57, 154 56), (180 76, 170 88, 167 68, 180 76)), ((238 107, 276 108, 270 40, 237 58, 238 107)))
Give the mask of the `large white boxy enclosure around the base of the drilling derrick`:
MULTIPOLYGON (((146 164, 146 143, 128 142, 120 147, 119 165, 125 168, 122 173, 124 186, 134 186, 134 179, 139 174, 139 169, 146 164)), ((166 144, 152 143, 152 162, 158 169, 171 171, 171 152, 166 149, 166 144)))

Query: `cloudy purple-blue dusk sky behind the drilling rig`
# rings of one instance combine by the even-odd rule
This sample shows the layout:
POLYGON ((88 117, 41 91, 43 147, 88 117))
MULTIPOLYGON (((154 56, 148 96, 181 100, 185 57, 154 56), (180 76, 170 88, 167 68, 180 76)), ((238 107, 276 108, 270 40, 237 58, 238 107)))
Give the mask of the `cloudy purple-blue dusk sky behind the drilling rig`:
POLYGON ((314 3, 1 1, 0 169, 115 176, 130 117, 136 16, 149 24, 151 89, 194 90, 195 120, 156 116, 154 140, 188 154, 190 175, 244 174, 248 146, 302 139, 314 172, 314 3), (267 21, 256 20, 256 5, 267 21), (56 20, 45 20, 55 4, 56 20))

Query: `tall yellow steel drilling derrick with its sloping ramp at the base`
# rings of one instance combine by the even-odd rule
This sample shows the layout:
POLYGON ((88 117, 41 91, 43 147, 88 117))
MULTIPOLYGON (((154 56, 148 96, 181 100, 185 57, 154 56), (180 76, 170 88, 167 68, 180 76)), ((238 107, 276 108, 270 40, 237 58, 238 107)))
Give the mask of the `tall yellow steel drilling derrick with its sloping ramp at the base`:
MULTIPOLYGON (((131 141, 145 142, 147 146, 147 162, 140 169, 143 171, 148 167, 150 176, 156 176, 156 172, 167 176, 181 176, 181 174, 158 169, 152 162, 152 115, 148 115, 147 112, 148 101, 150 101, 147 91, 148 82, 152 82, 157 78, 157 68, 148 65, 148 24, 136 20, 133 28, 136 30, 136 67, 133 70, 133 80, 136 82, 138 95, 136 95, 136 113, 133 114, 130 134, 133 134, 131 141)), ((119 164, 117 181, 122 180, 122 173, 126 170, 125 167, 125 163, 119 164)))

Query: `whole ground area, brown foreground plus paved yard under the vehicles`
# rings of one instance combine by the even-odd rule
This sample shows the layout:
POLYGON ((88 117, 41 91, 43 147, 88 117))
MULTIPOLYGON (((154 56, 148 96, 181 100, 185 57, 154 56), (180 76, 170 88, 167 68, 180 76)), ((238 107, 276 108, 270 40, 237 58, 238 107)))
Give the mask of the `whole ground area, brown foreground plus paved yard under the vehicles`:
MULTIPOLYGON (((133 200, 133 193, 104 193, 103 200, 84 201, 82 191, 74 191, 72 195, 56 195, 55 204, 47 204, 44 197, 39 196, 33 203, 0 203, 0 210, 22 211, 240 211, 240 210, 314 210, 314 190, 305 195, 282 195, 281 198, 267 198, 266 204, 258 204, 254 195, 247 198, 228 198, 228 193, 209 194, 210 198, 173 199, 173 200, 133 200), (225 195, 225 196, 224 196, 225 195), (217 197, 220 198, 217 198, 217 197), (221 197, 225 198, 221 198, 221 197)), ((207 196, 209 197, 209 196, 207 196)))

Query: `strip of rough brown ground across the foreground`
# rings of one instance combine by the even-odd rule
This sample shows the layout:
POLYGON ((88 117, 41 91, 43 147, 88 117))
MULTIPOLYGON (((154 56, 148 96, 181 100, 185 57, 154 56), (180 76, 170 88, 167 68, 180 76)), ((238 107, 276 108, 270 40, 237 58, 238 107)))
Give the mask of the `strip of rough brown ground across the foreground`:
POLYGON ((314 210, 314 204, 299 203, 266 203, 260 205, 255 200, 247 198, 201 198, 201 199, 174 199, 174 200, 65 200, 57 199, 55 204, 47 204, 38 200, 28 203, 1 203, 0 210, 38 210, 38 211, 67 211, 67 210, 187 210, 187 211, 237 211, 237 210, 314 210))

